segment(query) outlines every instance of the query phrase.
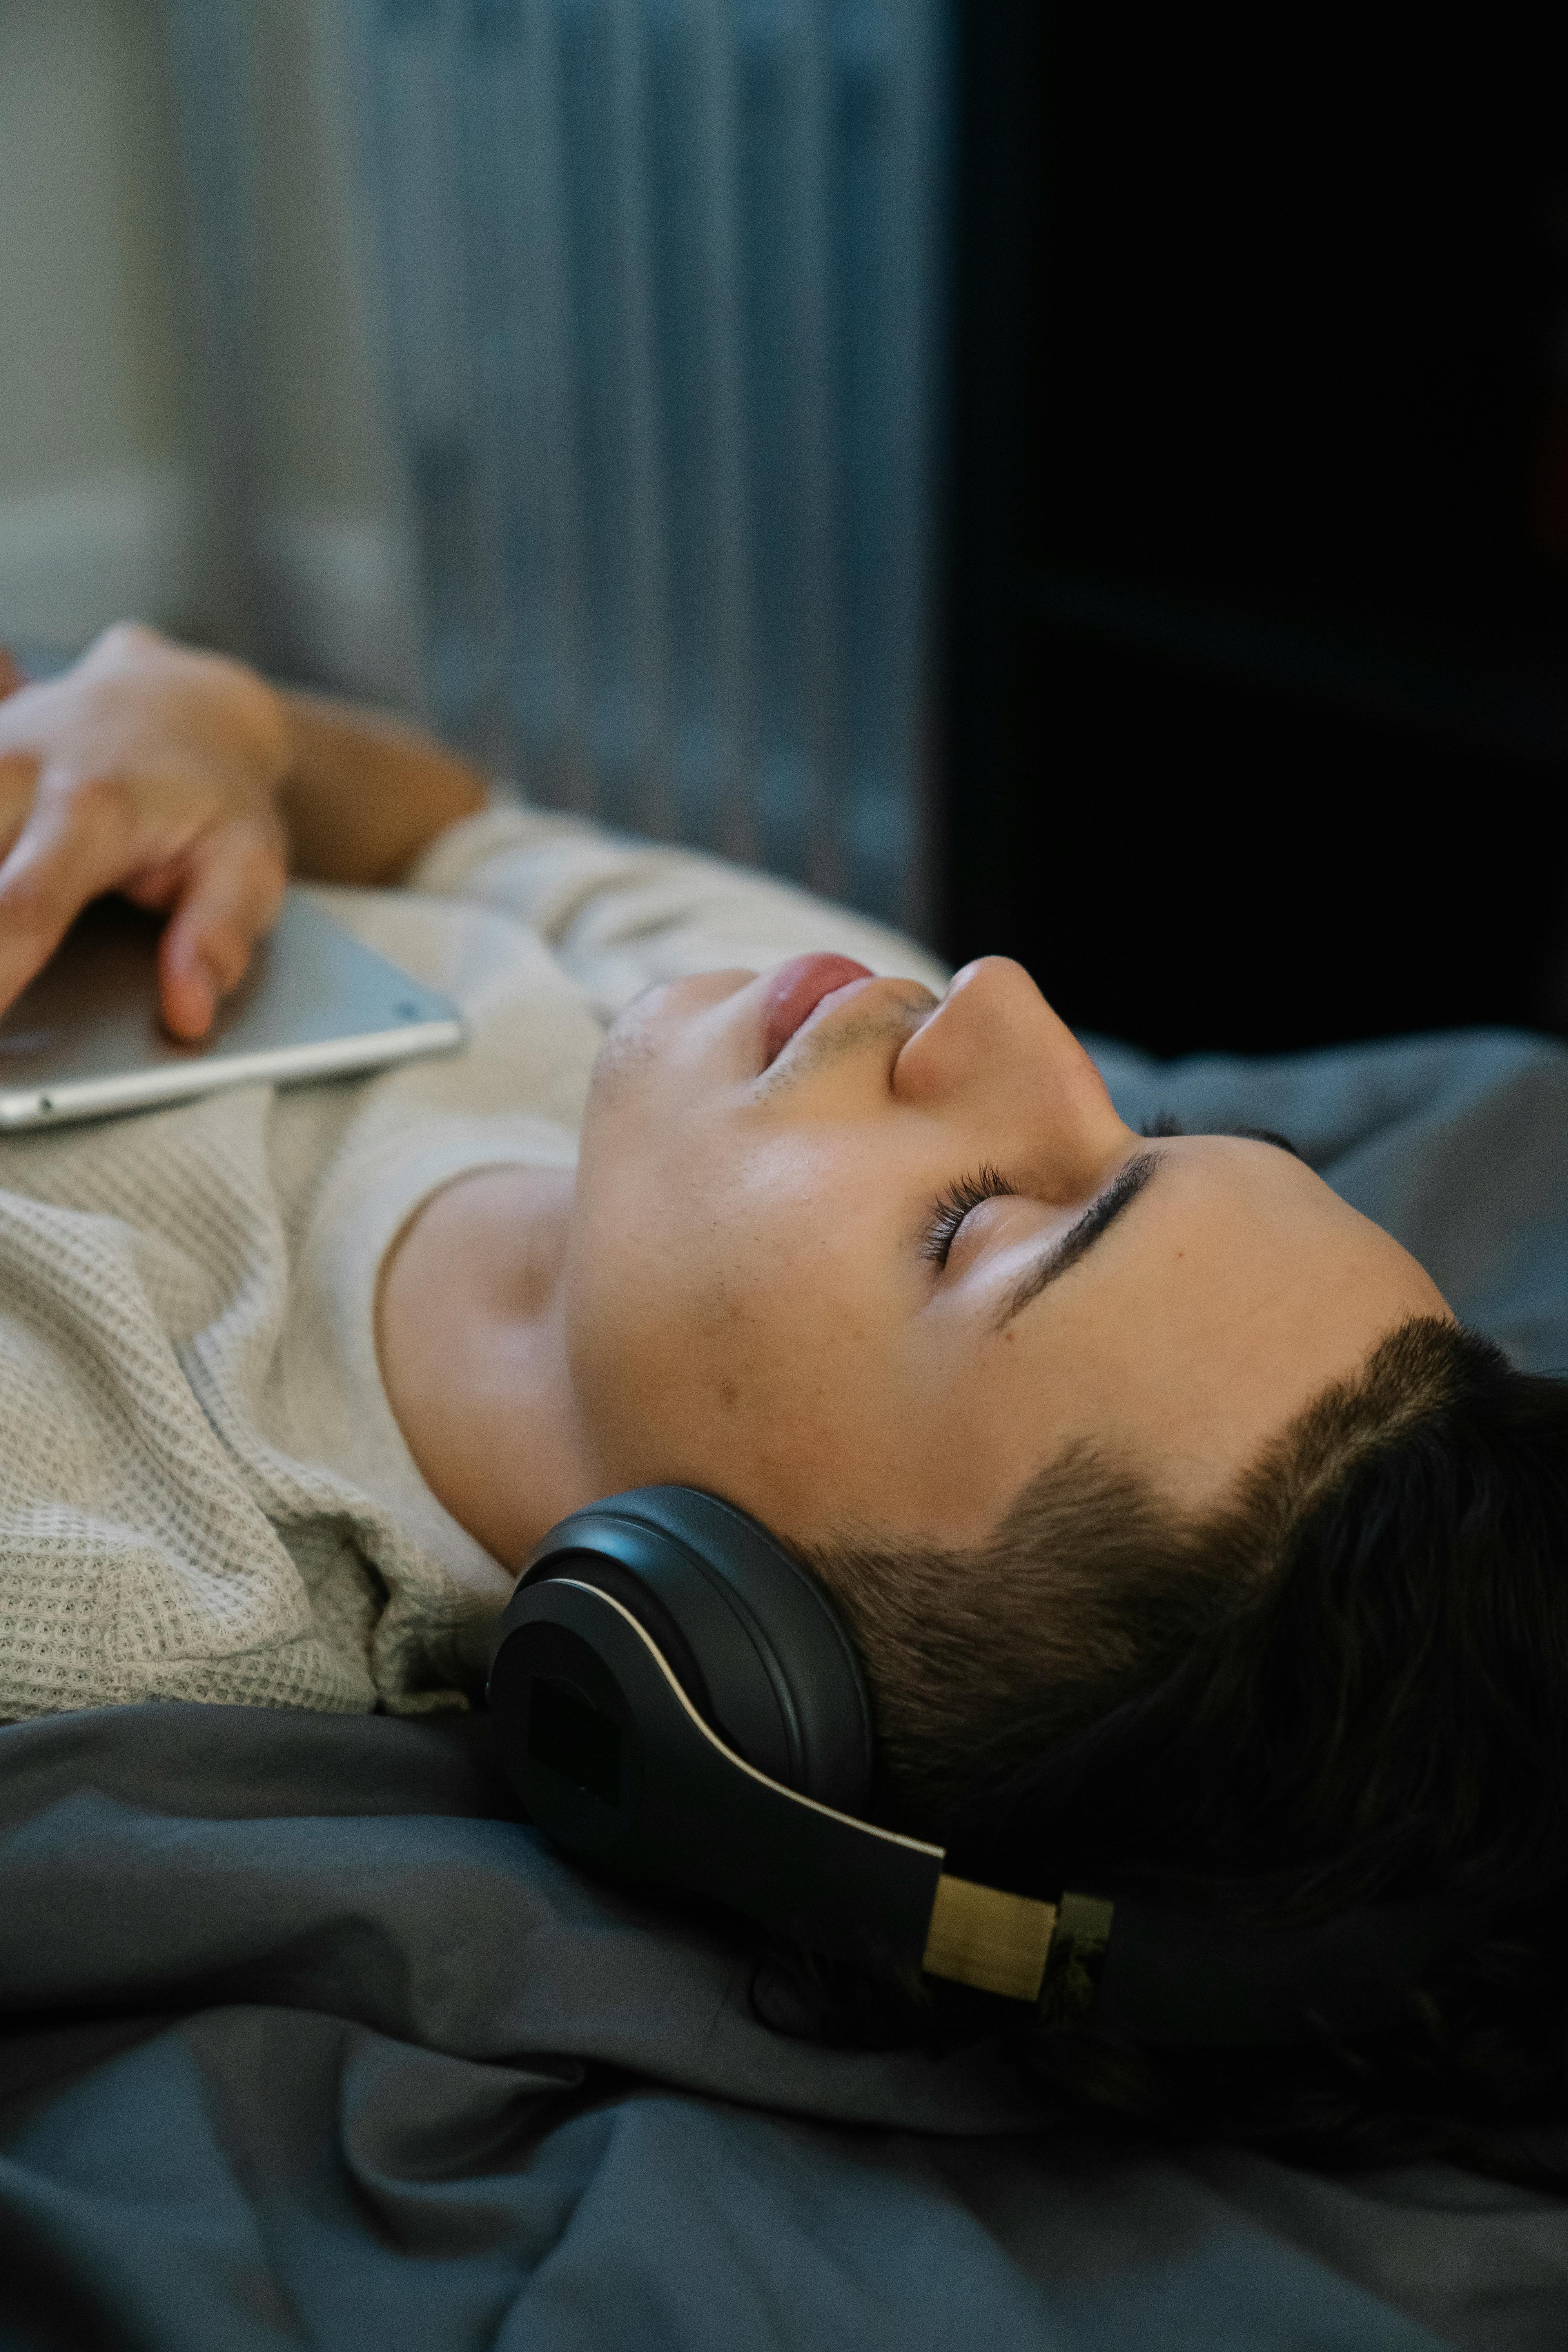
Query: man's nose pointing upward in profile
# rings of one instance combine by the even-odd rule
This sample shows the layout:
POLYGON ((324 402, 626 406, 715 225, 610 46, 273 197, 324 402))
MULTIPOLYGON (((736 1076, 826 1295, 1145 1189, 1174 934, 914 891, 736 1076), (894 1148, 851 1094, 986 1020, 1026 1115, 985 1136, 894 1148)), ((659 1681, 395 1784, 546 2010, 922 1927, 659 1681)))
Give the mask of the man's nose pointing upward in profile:
POLYGON ((1067 1023, 1009 955, 954 974, 943 1002, 903 1044, 893 1091, 912 1108, 957 1115, 1006 1169, 1027 1150, 1065 1195, 1093 1185, 1126 1148, 1105 1080, 1067 1023))

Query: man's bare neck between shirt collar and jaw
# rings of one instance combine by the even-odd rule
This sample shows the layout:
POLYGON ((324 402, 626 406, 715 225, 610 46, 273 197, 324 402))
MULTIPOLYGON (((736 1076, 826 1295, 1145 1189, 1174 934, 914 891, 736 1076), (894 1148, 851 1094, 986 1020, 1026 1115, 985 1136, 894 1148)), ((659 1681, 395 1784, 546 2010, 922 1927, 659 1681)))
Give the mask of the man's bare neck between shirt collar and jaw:
POLYGON ((567 1362, 571 1169, 477 1169, 388 1251, 376 1350, 418 1472, 475 1543, 520 1569, 597 1482, 567 1362))

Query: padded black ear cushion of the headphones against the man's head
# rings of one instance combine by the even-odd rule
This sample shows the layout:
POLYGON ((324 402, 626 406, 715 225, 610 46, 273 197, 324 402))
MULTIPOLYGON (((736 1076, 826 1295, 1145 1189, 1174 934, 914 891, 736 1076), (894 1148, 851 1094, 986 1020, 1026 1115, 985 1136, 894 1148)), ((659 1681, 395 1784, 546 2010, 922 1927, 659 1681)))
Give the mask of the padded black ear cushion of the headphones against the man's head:
POLYGON ((517 1592, 548 1576, 628 1606, 691 1705, 757 1771, 835 1811, 865 1809, 872 1712, 853 1642, 827 1592, 748 1512, 696 1486, 635 1486, 562 1519, 517 1592))

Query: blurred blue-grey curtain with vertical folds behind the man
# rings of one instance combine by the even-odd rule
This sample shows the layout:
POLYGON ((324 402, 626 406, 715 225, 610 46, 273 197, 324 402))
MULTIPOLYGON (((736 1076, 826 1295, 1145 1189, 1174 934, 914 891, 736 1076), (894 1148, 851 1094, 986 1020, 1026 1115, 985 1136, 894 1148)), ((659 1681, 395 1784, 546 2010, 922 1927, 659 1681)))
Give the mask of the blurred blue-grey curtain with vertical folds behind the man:
MULTIPOLYGON (((536 800, 919 929, 943 0, 317 14, 430 717, 536 800)), ((167 19, 244 574, 254 12, 167 19)))

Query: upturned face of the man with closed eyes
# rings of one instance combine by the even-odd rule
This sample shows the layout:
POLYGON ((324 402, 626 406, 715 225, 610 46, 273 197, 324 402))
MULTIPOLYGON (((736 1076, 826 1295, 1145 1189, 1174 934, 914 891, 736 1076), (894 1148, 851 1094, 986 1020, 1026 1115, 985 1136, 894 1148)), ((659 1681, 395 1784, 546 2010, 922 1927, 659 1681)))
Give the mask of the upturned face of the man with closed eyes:
POLYGON ((1199 1508, 1448 1312, 1276 1145, 1135 1136, 1020 964, 858 969, 675 981, 604 1044, 567 1251, 602 1491, 966 1548, 1091 1439, 1199 1508))

